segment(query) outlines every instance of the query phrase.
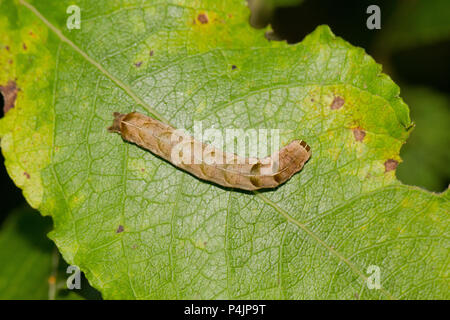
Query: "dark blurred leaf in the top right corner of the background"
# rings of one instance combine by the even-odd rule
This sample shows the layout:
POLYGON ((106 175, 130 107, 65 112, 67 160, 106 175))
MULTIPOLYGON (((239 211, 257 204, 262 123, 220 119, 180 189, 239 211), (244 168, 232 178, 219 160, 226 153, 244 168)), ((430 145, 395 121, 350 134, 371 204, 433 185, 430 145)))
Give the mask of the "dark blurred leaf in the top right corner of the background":
POLYGON ((399 0, 375 41, 375 57, 394 80, 450 90, 450 1, 399 0))

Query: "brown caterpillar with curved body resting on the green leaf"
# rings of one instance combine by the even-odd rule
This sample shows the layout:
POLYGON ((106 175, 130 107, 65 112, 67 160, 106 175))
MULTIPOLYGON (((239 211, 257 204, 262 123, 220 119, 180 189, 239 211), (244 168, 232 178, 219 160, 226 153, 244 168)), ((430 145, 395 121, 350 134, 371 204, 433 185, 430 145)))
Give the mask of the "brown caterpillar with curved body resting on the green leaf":
POLYGON ((293 140, 270 157, 243 158, 183 136, 173 127, 138 112, 115 112, 108 130, 202 180, 243 190, 278 187, 300 171, 311 156, 305 141, 293 140), (186 150, 191 152, 186 154, 186 150), (198 161, 201 154, 208 157, 198 161))

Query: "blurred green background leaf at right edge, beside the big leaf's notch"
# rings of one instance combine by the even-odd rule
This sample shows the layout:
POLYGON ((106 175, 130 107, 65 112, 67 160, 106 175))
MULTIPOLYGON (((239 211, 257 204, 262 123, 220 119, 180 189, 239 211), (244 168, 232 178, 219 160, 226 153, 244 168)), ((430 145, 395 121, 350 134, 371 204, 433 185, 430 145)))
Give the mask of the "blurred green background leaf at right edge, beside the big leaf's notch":
POLYGON ((402 95, 416 123, 401 150, 398 178, 430 191, 443 191, 450 182, 450 99, 427 88, 407 87, 402 95))

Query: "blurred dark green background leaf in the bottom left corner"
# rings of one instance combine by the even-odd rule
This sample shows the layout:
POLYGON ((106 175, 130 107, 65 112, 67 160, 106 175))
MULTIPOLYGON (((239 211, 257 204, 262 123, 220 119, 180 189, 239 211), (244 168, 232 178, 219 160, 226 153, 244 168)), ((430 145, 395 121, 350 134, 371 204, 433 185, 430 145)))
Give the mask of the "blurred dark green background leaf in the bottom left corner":
POLYGON ((65 289, 67 264, 47 238, 51 219, 23 206, 8 215, 0 229, 0 299, 98 298, 81 282, 81 291, 65 289))

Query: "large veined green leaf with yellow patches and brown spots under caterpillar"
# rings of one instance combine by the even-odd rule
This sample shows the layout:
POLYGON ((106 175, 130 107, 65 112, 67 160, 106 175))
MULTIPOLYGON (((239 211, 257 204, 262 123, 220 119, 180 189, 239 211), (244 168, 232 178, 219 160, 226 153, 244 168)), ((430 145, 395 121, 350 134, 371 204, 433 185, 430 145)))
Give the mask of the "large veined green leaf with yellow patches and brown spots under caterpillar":
POLYGON ((449 298, 449 192, 396 180, 411 121, 381 66, 326 26, 269 42, 243 1, 139 3, 80 2, 71 31, 69 1, 1 4, 0 84, 21 89, 2 151, 68 263, 105 298, 449 298), (224 190, 107 132, 133 110, 313 155, 276 190, 224 190))

